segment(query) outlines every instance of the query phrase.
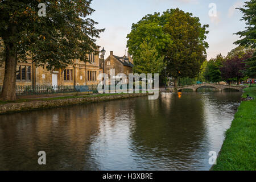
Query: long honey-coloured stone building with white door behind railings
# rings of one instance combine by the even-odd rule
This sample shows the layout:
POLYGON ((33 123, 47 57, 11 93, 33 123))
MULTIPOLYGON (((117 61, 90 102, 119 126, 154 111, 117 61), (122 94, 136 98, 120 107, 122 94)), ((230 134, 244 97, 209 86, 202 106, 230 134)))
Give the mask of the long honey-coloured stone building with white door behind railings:
MULTIPOLYGON (((97 50, 98 51, 98 50, 97 50)), ((52 69, 35 67, 32 59, 28 57, 27 63, 17 63, 16 85, 96 85, 97 76, 100 73, 99 56, 91 53, 89 61, 84 63, 78 59, 72 65, 64 69, 52 69)), ((5 64, 0 65, 0 86, 3 85, 5 64)))

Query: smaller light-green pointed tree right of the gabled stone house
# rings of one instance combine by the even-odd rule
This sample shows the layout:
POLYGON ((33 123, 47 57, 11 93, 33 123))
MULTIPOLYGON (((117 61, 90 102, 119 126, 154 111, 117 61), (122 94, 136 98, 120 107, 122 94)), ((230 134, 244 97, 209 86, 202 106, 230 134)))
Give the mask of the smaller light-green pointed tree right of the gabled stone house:
POLYGON ((163 56, 160 56, 156 46, 151 43, 143 42, 133 56, 135 73, 160 73, 165 64, 163 56))

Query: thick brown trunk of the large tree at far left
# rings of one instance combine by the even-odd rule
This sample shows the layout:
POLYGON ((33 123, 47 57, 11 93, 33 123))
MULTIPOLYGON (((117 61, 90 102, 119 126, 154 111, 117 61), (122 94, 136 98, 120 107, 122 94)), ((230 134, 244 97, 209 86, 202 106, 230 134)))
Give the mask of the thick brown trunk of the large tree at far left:
POLYGON ((5 46, 5 78, 3 79, 1 99, 4 101, 14 101, 16 100, 16 50, 12 43, 8 43, 5 46))

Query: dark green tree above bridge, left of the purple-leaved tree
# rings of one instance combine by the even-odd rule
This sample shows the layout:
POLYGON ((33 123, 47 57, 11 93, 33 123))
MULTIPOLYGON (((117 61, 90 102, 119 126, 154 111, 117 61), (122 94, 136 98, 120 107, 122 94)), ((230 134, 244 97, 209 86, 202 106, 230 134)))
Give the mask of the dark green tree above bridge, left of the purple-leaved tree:
POLYGON ((207 62, 204 72, 205 80, 210 82, 222 81, 220 67, 224 60, 224 56, 219 54, 216 58, 212 58, 207 62))

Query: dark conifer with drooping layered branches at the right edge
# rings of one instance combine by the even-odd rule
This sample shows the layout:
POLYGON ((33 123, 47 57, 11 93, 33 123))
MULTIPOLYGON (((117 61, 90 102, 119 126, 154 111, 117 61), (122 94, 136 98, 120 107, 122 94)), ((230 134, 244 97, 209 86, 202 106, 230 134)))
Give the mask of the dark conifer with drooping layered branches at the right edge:
MULTIPOLYGON (((239 10, 243 13, 242 20, 246 22, 246 30, 237 32, 237 35, 240 35, 240 40, 234 42, 234 44, 238 44, 240 46, 249 47, 251 46, 256 49, 256 1, 251 0, 245 2, 245 6, 239 8, 239 10)), ((247 59, 246 69, 244 73, 247 76, 255 77, 256 76, 256 52, 254 51, 254 56, 250 59, 247 59)))

